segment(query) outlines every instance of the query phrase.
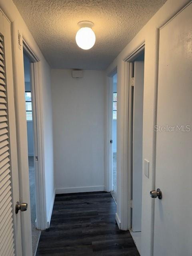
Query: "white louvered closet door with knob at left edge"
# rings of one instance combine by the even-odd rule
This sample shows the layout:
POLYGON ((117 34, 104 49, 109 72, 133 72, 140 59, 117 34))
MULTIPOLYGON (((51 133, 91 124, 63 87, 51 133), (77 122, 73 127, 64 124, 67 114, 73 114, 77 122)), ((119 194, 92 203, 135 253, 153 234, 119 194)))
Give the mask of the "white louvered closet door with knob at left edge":
POLYGON ((22 255, 10 23, 0 12, 0 256, 22 255))

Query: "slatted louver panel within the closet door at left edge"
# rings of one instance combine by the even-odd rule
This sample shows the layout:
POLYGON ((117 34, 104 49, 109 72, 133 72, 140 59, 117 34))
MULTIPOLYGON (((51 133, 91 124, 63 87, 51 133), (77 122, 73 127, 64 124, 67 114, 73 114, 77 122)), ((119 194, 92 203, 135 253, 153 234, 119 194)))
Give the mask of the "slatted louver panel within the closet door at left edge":
POLYGON ((4 37, 0 35, 0 256, 14 256, 4 37))

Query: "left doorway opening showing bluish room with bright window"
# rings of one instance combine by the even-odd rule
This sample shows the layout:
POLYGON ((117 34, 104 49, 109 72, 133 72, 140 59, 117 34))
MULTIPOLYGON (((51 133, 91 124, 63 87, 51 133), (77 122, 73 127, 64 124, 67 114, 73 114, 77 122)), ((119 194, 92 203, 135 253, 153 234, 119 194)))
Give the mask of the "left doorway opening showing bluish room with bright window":
POLYGON ((29 167, 29 184, 30 184, 30 213, 31 213, 31 230, 32 230, 32 251, 36 254, 38 241, 41 231, 36 228, 36 155, 35 141, 36 129, 36 104, 34 90, 32 86, 30 57, 24 52, 24 80, 25 80, 25 102, 26 102, 26 122, 27 122, 27 141, 28 141, 28 167, 29 167))

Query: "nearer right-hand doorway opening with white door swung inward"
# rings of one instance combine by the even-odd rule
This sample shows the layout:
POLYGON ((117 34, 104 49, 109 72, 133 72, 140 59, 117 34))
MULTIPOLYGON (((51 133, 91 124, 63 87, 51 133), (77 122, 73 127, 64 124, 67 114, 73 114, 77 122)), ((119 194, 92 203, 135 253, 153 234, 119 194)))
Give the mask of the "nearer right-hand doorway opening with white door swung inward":
POLYGON ((144 51, 131 62, 131 234, 141 251, 144 51))

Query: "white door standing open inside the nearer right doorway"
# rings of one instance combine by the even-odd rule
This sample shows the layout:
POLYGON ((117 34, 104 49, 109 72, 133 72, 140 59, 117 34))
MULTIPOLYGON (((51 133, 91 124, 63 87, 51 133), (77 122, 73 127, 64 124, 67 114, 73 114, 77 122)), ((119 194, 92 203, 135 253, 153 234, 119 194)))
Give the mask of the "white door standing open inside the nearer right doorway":
POLYGON ((141 231, 144 61, 134 62, 132 230, 141 231))

